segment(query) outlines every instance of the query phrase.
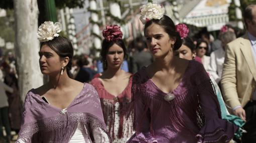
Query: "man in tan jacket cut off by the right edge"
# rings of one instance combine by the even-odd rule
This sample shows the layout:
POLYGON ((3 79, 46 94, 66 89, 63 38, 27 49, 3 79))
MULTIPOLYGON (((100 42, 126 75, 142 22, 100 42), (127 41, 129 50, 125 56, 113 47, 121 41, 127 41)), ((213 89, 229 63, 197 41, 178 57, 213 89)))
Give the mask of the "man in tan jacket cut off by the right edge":
POLYGON ((228 43, 222 72, 223 97, 234 115, 246 120, 242 142, 256 142, 256 4, 245 8, 247 32, 228 43))

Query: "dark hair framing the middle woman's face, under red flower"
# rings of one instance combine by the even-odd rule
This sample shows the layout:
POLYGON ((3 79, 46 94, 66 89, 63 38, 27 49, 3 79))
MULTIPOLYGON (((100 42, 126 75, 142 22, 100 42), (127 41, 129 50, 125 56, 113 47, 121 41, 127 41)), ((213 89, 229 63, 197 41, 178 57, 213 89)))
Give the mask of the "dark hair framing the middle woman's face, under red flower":
POLYGON ((107 69, 107 62, 106 62, 107 53, 109 51, 109 48, 114 44, 119 45, 123 49, 124 59, 126 59, 127 56, 128 56, 125 43, 122 39, 114 40, 114 41, 108 41, 107 39, 104 39, 103 42, 102 42, 102 49, 101 49, 101 60, 103 62, 103 69, 104 70, 107 69))

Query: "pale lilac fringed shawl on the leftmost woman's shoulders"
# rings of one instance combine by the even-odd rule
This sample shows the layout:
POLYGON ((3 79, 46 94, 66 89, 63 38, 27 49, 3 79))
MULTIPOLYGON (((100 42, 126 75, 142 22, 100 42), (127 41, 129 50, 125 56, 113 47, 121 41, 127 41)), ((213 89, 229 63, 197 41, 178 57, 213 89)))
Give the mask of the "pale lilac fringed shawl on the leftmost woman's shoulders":
POLYGON ((68 142, 81 124, 86 142, 94 142, 92 128, 106 131, 100 99, 95 88, 84 83, 66 112, 46 103, 31 89, 25 98, 23 122, 18 139, 25 142, 68 142))

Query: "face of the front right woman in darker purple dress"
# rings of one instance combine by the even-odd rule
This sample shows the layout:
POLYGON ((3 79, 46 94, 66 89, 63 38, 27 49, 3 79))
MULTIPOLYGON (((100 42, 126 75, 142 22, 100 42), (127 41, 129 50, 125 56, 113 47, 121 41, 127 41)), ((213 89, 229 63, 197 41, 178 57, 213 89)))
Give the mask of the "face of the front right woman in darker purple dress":
POLYGON ((147 47, 154 57, 164 56, 171 51, 171 45, 175 39, 170 38, 164 29, 155 23, 149 25, 145 30, 147 47))

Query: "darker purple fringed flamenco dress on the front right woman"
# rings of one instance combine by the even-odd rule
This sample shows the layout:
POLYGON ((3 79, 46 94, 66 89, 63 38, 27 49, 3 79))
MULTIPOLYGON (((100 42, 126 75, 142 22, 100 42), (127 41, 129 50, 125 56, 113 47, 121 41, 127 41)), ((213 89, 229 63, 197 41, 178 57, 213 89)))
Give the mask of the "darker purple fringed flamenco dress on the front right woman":
POLYGON ((237 126, 221 119, 217 97, 203 65, 190 60, 181 83, 164 100, 142 68, 133 76, 132 103, 136 133, 128 142, 228 142, 237 126))

